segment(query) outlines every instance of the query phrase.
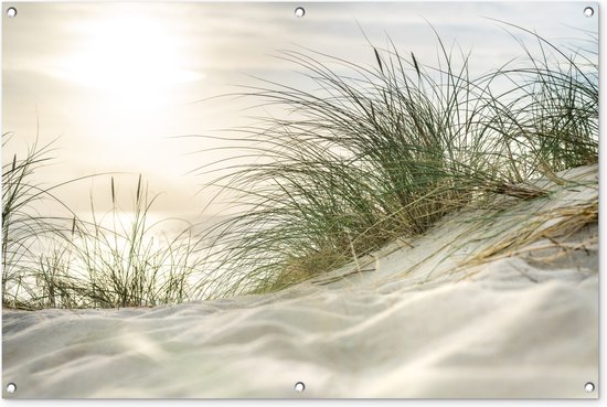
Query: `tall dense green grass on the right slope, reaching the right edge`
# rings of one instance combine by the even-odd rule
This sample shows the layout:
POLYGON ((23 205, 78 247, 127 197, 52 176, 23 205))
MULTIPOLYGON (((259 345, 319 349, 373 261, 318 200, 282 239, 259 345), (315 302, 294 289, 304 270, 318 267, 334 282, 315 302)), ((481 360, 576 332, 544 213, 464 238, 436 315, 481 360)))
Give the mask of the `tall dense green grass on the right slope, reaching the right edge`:
POLYGON ((437 39, 439 67, 394 44, 370 49, 374 67, 286 51, 317 90, 266 81, 245 94, 289 115, 230 139, 255 160, 215 181, 245 207, 209 232, 221 294, 336 269, 488 194, 541 196, 533 178, 597 160, 593 55, 532 34, 539 58, 523 47, 523 65, 471 77, 469 55, 437 39))

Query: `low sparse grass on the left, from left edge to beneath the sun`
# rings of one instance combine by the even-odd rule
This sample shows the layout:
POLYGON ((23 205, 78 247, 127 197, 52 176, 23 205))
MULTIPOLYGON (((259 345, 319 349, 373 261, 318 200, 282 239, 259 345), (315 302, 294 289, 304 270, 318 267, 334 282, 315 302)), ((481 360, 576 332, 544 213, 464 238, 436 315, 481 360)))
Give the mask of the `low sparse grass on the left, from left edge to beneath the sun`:
POLYGON ((110 178, 111 211, 99 217, 92 200, 93 218, 77 216, 53 195, 63 184, 41 188, 33 181, 52 160, 50 147, 36 142, 22 160, 13 156, 2 168, 3 307, 150 307, 191 299, 202 272, 192 225, 163 234, 164 222, 151 223, 156 197, 141 176, 131 211, 118 206, 110 178), (46 201, 65 213, 43 215, 46 201))

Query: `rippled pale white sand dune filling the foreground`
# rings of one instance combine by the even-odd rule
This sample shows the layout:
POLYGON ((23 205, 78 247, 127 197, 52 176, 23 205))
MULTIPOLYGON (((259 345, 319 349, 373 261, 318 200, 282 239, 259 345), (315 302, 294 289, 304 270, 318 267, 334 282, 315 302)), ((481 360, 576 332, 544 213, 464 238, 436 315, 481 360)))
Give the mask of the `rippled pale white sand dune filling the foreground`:
POLYGON ((413 247, 394 244, 360 259, 360 269, 275 294, 155 309, 4 310, 3 384, 18 392, 3 396, 597 397, 584 390, 598 384, 596 225, 561 248, 540 238, 457 267, 522 235, 534 214, 596 202, 596 170, 568 174, 583 184, 550 200, 489 219, 458 214, 413 247), (303 393, 294 392, 296 382, 303 393))

